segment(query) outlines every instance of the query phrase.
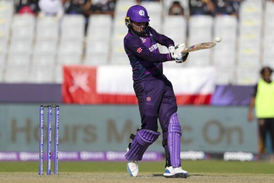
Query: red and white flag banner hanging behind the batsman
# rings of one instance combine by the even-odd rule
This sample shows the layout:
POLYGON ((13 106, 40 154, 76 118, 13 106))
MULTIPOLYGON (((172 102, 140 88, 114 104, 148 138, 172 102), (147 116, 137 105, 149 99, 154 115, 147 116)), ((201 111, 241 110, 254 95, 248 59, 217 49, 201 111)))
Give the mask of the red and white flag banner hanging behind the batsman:
MULTIPOLYGON (((128 65, 63 67, 63 101, 78 104, 137 104, 128 65)), ((215 69, 165 67, 178 105, 206 105, 214 92, 215 69)))

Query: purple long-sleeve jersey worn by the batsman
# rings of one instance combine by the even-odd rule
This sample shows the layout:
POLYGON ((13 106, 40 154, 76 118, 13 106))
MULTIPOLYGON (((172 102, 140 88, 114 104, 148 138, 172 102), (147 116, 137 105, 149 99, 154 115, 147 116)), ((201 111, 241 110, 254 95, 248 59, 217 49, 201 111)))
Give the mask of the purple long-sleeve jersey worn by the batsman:
POLYGON ((148 75, 163 74, 164 61, 172 60, 169 54, 161 54, 157 43, 174 46, 172 39, 149 28, 148 36, 138 37, 131 31, 124 38, 124 48, 132 66, 133 80, 145 78, 148 75))

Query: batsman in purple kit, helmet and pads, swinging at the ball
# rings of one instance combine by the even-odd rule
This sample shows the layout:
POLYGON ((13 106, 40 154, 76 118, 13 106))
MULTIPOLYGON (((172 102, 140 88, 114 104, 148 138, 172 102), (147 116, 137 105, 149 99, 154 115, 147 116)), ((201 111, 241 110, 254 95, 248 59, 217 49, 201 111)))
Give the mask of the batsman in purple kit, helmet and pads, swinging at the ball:
POLYGON ((163 132, 163 147, 166 156, 165 177, 187 178, 188 172, 181 167, 180 138, 181 125, 177 117, 177 104, 172 84, 163 74, 163 62, 186 61, 187 54, 181 54, 185 44, 174 47, 174 42, 149 26, 146 9, 134 5, 125 18, 128 33, 124 38, 124 49, 133 71, 134 91, 141 116, 141 129, 131 135, 125 157, 127 169, 132 177, 138 175, 138 161, 149 145, 157 140, 158 119, 163 132), (169 53, 161 54, 157 43, 168 48, 169 53))

